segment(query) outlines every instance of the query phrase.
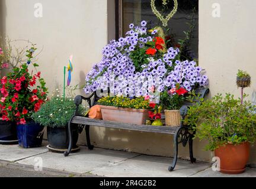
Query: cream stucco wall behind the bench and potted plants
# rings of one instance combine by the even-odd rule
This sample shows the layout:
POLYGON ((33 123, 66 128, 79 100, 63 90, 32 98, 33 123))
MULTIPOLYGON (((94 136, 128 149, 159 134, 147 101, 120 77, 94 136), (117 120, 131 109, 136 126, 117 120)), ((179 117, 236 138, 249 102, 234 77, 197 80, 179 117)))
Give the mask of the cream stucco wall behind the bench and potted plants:
MULTIPOLYGON (((112 0, 111 0, 112 1, 112 0)), ((106 0, 41 0, 43 18, 34 17, 38 0, 0 0, 1 30, 12 39, 30 39, 43 51, 39 56, 40 70, 50 90, 62 85, 63 66, 74 55, 72 84, 84 84, 85 74, 101 59, 101 49, 114 37, 113 2, 106 0)), ((210 79, 210 96, 231 92, 239 95, 235 85, 238 69, 252 75, 251 94, 256 87, 254 61, 255 0, 218 0, 221 17, 212 17, 216 0, 200 0, 199 61, 210 79)), ((84 94, 82 91, 81 94, 84 94)), ((131 118, 132 119, 132 118, 131 118)), ((172 136, 154 133, 92 128, 95 146, 145 154, 172 156, 172 136)), ((82 133, 79 143, 85 144, 82 133)), ((206 142, 194 142, 194 156, 210 161, 212 152, 203 151, 206 142)), ((188 157, 188 148, 180 147, 179 155, 188 157)), ((252 148, 250 162, 256 162, 252 148)))

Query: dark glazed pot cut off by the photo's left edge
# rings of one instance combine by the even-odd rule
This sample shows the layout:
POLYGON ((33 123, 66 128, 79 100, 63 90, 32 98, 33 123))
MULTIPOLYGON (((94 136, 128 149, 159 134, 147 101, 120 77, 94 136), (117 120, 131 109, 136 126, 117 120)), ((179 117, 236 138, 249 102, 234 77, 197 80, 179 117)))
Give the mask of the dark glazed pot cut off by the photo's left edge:
POLYGON ((18 144, 15 122, 0 120, 0 144, 18 144))

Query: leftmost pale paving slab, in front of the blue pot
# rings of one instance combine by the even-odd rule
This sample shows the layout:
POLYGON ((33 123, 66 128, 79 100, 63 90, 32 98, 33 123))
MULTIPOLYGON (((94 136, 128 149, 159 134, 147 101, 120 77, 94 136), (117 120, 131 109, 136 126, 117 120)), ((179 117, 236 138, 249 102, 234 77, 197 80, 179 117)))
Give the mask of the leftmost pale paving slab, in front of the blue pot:
POLYGON ((18 161, 20 159, 32 157, 48 152, 47 142, 43 142, 40 148, 21 148, 18 145, 0 145, 0 159, 4 161, 18 161))

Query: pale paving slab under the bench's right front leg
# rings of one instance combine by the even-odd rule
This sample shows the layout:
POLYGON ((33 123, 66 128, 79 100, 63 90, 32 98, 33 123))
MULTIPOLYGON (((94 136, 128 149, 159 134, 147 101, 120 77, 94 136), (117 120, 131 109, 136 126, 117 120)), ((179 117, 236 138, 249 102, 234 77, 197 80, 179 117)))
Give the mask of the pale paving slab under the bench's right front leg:
POLYGON ((111 164, 92 171, 92 174, 105 177, 189 177, 199 171, 206 170, 210 164, 178 159, 175 170, 168 171, 172 158, 140 155, 127 161, 111 164))

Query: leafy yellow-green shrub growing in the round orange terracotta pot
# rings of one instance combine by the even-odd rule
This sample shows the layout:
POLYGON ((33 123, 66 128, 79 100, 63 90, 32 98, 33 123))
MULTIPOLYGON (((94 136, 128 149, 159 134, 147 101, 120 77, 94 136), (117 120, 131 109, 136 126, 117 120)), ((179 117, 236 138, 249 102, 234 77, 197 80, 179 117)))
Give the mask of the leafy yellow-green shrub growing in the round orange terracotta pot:
POLYGON ((217 94, 212 100, 206 100, 190 107, 187 114, 188 125, 196 131, 196 138, 207 139, 206 150, 214 151, 220 145, 241 144, 256 140, 255 106, 233 95, 217 94))

